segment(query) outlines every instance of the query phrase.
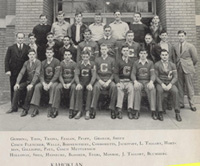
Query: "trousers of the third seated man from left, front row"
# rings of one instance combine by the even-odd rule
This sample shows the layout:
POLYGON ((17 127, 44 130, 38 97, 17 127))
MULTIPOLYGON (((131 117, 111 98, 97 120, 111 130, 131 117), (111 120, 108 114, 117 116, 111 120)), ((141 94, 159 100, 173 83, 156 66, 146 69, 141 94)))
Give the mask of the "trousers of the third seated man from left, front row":
POLYGON ((70 107, 69 109, 74 110, 74 104, 75 104, 75 89, 76 85, 72 84, 69 89, 65 89, 61 83, 59 83, 55 88, 55 94, 53 97, 53 108, 59 108, 60 101, 61 101, 61 93, 64 93, 64 95, 69 95, 70 98, 70 107))

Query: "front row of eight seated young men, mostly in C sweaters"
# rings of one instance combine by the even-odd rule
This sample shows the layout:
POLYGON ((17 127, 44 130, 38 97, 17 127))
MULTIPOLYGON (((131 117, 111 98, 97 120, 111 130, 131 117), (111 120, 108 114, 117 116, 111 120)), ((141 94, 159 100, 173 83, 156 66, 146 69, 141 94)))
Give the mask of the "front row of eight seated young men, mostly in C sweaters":
MULTIPOLYGON (((161 51, 161 60, 155 65, 147 59, 147 51, 141 49, 139 59, 135 62, 129 59, 128 46, 122 47, 122 57, 117 62, 108 56, 108 47, 102 44, 101 56, 95 62, 90 61, 91 52, 82 52, 82 60, 75 63, 69 50, 64 51, 64 60, 54 58, 52 48, 46 49, 46 57, 42 63, 36 59, 34 49, 29 50, 29 60, 26 61, 18 75, 14 87, 12 111, 18 110, 19 94, 27 90, 21 116, 26 116, 30 105, 33 105, 31 117, 39 114, 41 95, 49 93, 48 117, 55 118, 61 101, 61 94, 69 96, 69 118, 80 119, 85 112, 85 119, 94 119, 99 96, 102 90, 109 92, 111 118, 122 119, 124 94, 127 93, 127 112, 129 119, 140 117, 141 97, 143 90, 147 98, 154 120, 163 121, 163 96, 171 93, 176 113, 176 120, 181 121, 178 90, 176 88, 176 66, 168 61, 167 50, 161 51), (27 73, 26 82, 22 77, 27 73), (156 88, 155 88, 156 86, 156 88), (85 101, 86 100, 86 101, 85 101), (85 104, 83 104, 85 101, 85 104), (85 106, 85 109, 83 109, 85 106), (85 111, 83 111, 85 110, 85 111)), ((9 112, 9 113, 10 113, 9 112)))

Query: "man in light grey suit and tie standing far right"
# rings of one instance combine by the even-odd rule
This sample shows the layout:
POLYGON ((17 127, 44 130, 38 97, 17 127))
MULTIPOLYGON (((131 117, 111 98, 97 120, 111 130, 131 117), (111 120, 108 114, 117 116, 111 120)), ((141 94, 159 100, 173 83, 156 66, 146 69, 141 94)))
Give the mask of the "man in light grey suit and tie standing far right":
POLYGON ((192 111, 196 111, 194 105, 193 75, 195 73, 194 66, 198 61, 197 50, 194 45, 186 41, 185 31, 178 31, 178 39, 179 42, 174 46, 174 63, 177 65, 178 71, 180 107, 184 108, 184 87, 186 87, 190 108, 192 111))

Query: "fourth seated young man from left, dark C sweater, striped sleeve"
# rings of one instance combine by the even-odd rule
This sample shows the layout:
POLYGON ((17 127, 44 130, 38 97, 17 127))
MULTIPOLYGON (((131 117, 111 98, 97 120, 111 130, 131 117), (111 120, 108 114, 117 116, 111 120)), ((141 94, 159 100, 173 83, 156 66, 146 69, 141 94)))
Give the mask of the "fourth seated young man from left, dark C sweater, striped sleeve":
POLYGON ((77 63, 75 71, 75 82, 77 84, 75 110, 78 111, 77 113, 75 113, 75 119, 80 119, 83 113, 83 99, 85 98, 85 119, 89 120, 91 115, 90 106, 92 100, 93 84, 96 80, 96 67, 95 63, 93 61, 90 61, 89 50, 83 51, 81 57, 82 60, 77 63))

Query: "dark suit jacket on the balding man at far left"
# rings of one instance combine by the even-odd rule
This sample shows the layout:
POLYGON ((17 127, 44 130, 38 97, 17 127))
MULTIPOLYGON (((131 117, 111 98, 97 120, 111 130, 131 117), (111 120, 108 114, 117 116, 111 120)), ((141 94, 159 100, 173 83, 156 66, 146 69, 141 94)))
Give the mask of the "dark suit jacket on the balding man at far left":
POLYGON ((24 62, 27 61, 28 58, 28 50, 30 47, 26 44, 23 44, 22 51, 14 44, 8 47, 6 56, 5 56, 5 72, 11 71, 11 76, 18 75, 24 62))

